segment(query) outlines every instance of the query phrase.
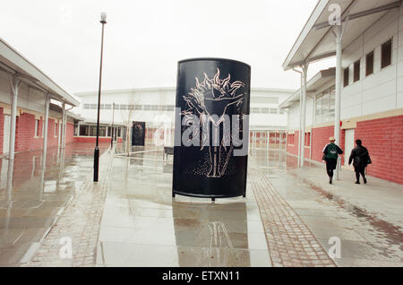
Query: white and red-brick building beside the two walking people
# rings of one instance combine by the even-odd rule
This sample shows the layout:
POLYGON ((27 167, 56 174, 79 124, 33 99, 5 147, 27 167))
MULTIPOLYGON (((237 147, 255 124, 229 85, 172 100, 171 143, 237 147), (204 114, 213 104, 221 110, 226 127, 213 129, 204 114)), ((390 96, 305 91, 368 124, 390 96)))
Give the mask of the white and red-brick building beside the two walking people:
POLYGON ((368 174, 403 184, 402 22, 401 1, 319 0, 283 64, 302 72, 301 90, 280 105, 288 111, 290 154, 322 161, 324 145, 335 136, 348 168, 361 139, 373 161, 368 174), (338 21, 330 21, 335 6, 338 21), (336 68, 304 83, 308 64, 331 56, 336 68))

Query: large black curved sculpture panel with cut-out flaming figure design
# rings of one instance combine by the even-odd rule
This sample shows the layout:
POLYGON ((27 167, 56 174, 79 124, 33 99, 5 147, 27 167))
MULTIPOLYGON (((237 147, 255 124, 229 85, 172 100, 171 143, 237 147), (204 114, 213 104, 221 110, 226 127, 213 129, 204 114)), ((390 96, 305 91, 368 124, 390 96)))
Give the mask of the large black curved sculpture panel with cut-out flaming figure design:
POLYGON ((173 196, 245 196, 250 80, 235 60, 178 63, 173 196))

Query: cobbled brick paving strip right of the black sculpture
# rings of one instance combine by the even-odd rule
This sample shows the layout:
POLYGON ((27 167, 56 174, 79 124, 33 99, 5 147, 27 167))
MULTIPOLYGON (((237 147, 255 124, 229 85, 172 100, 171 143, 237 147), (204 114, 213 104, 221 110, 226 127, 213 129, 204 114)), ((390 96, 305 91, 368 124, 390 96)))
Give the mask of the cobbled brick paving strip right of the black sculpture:
POLYGON ((262 216, 274 267, 335 267, 313 233, 257 168, 249 169, 249 183, 262 216))

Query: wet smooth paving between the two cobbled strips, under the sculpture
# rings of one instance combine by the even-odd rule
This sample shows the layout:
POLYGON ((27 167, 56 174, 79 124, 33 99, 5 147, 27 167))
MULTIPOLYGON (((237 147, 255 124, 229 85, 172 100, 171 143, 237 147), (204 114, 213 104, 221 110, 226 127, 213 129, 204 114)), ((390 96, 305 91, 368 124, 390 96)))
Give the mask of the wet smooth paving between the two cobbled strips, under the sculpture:
POLYGON ((172 194, 161 151, 116 157, 99 233, 100 266, 270 266, 253 193, 196 199, 172 194))

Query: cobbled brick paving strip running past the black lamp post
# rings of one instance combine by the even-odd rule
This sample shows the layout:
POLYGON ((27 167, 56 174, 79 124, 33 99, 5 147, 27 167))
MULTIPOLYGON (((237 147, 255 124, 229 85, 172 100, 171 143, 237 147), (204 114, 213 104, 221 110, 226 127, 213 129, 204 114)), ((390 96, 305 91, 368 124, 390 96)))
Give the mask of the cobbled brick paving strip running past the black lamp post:
POLYGON ((99 227, 107 196, 107 183, 113 154, 106 151, 99 158, 99 182, 89 174, 68 203, 64 212, 42 240, 39 249, 24 266, 94 266, 97 257, 99 227), (71 238, 72 258, 62 258, 63 238, 71 238))

